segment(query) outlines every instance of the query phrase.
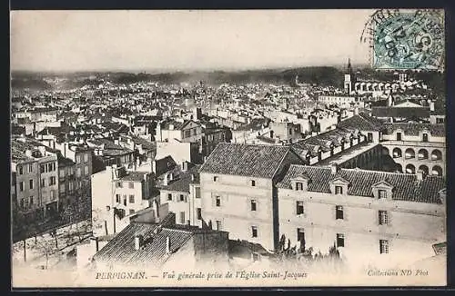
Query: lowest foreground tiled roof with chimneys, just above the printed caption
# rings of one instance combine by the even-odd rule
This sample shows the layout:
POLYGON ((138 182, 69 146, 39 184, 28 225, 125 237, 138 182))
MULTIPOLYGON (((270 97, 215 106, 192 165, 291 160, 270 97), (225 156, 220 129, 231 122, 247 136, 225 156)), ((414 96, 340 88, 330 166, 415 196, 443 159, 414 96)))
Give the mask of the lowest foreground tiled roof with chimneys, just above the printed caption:
POLYGON ((131 222, 116 237, 96 253, 95 261, 131 263, 152 263, 159 267, 193 236, 193 232, 162 228, 154 233, 158 224, 131 222), (144 247, 135 250, 135 236, 144 237, 144 247), (167 237, 170 240, 170 254, 166 252, 167 237))

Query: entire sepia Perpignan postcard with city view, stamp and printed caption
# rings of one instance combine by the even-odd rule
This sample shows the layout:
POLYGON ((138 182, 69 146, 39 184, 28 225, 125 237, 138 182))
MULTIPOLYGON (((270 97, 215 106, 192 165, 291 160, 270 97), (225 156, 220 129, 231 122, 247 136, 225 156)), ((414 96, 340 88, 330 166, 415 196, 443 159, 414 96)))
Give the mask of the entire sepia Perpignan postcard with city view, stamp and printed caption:
POLYGON ((12 10, 12 288, 447 285, 445 30, 12 10))

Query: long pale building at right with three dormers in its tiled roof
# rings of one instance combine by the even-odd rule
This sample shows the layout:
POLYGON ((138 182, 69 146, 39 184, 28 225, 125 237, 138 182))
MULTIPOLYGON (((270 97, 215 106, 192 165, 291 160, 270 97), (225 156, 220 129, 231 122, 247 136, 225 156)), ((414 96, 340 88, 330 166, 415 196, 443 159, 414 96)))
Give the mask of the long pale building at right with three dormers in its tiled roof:
POLYGON ((279 234, 357 262, 417 261, 446 242, 445 187, 423 173, 291 165, 278 183, 279 234))

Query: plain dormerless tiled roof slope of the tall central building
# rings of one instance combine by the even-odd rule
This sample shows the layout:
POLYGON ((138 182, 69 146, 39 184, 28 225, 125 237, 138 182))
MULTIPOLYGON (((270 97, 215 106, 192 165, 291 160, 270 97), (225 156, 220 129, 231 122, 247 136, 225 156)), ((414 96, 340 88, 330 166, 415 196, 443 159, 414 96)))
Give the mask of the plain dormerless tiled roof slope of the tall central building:
POLYGON ((289 152, 282 145, 218 143, 199 172, 272 178, 289 152))

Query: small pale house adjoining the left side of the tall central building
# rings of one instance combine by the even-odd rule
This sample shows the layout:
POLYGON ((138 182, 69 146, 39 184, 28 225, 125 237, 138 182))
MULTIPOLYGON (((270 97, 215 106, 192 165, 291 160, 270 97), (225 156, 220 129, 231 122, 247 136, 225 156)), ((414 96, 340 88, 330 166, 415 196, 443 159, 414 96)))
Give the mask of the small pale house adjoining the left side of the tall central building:
POLYGON ((184 172, 160 190, 160 203, 167 203, 169 211, 176 213, 177 224, 202 227, 199 168, 200 165, 184 168, 184 172))

